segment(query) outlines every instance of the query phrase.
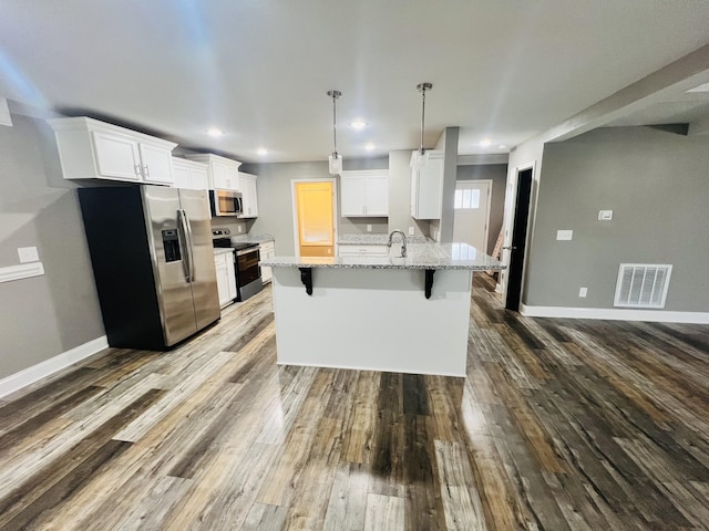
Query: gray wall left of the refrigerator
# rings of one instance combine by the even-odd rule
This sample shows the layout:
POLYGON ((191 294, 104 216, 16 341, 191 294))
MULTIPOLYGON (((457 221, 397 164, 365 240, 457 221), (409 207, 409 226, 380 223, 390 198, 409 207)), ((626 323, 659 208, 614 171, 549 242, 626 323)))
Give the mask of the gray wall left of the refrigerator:
POLYGON ((0 283, 0 378, 105 334, 75 187, 51 129, 13 115, 0 126, 0 267, 35 246, 45 274, 0 283))

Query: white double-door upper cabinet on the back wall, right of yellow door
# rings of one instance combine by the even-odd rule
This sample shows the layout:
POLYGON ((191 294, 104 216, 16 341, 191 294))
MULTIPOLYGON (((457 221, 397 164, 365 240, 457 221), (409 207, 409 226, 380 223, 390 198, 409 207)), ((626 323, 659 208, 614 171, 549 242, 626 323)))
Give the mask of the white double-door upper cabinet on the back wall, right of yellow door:
POLYGON ((389 216, 389 171, 342 171, 340 210, 343 217, 389 216))

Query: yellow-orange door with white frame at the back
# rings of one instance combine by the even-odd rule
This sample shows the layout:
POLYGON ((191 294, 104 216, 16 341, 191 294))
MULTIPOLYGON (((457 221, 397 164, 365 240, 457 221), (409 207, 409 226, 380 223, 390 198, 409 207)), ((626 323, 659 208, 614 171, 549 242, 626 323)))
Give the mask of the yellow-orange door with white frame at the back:
POLYGON ((332 183, 296 183, 301 257, 335 256, 332 183))

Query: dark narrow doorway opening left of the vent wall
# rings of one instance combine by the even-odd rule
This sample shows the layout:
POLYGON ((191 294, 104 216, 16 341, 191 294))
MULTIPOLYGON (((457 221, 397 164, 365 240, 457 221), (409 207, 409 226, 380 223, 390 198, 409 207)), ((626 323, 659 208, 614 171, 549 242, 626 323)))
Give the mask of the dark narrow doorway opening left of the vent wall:
POLYGON ((517 170, 517 194, 512 227, 512 241, 510 247, 510 266, 507 269, 507 290, 505 308, 515 312, 520 311, 522 296, 522 279, 524 272, 524 258, 530 225, 530 200, 532 198, 533 168, 517 170))

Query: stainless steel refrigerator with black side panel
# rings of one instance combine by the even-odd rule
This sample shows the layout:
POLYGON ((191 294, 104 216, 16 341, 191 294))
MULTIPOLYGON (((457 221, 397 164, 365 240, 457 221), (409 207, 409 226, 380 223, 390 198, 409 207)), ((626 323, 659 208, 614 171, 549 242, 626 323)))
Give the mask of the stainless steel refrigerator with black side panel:
POLYGON ((111 346, 166 350, 219 319, 206 191, 92 187, 79 201, 111 346))

